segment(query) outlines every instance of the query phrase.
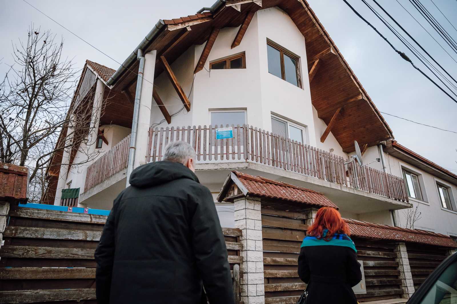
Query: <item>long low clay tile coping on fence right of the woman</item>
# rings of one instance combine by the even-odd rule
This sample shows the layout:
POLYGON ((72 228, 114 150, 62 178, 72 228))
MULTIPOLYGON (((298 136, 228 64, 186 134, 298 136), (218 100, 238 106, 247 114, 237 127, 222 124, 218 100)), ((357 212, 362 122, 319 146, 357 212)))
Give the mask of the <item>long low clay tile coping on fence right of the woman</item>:
POLYGON ((373 224, 355 219, 345 221, 349 224, 353 236, 457 248, 457 243, 449 236, 435 232, 373 224))

